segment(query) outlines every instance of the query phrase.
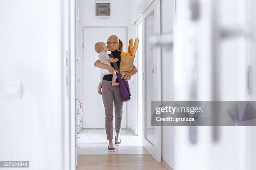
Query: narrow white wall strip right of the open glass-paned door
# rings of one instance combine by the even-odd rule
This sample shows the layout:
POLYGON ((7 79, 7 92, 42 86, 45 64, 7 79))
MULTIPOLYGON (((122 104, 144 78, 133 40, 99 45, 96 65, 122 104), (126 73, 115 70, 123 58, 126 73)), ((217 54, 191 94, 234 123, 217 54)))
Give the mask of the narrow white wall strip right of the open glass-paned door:
MULTIPOLYGON (((161 0, 161 33, 173 33, 175 0, 161 0)), ((171 46, 161 48, 161 100, 174 100, 173 53, 171 46)), ((174 168, 174 126, 161 127, 161 158, 174 168)))

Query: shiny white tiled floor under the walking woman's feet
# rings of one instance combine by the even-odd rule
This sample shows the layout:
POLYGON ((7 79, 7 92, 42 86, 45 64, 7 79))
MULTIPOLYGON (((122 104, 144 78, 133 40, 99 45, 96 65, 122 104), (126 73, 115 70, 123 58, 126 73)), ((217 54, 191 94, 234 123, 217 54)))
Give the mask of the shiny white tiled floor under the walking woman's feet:
MULTIPOLYGON (((115 135, 115 130, 113 130, 113 135, 115 135)), ((148 154, 146 149, 143 148, 140 138, 131 133, 131 131, 122 129, 120 138, 121 145, 114 145, 115 152, 111 153, 108 151, 105 129, 80 130, 78 154, 148 154)))

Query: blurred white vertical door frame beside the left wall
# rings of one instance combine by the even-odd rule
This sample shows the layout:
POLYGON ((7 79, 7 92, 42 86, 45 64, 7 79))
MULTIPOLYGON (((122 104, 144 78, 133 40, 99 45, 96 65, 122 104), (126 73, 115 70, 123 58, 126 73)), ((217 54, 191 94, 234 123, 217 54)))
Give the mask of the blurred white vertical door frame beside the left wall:
POLYGON ((61 70, 60 106, 62 117, 62 169, 75 170, 76 168, 76 1, 61 3, 61 70))

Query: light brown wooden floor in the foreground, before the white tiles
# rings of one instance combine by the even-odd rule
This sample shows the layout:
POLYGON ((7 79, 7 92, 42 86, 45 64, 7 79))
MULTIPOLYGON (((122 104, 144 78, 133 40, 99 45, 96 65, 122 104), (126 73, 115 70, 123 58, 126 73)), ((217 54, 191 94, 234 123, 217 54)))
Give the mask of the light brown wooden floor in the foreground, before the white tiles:
POLYGON ((78 155, 76 170, 167 170, 150 154, 78 155))

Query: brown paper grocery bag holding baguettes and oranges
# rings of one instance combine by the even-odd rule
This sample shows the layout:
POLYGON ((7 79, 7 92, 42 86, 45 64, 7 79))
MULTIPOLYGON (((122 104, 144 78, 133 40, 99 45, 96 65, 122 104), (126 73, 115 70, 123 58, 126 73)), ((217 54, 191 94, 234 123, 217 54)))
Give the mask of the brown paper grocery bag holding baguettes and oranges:
POLYGON ((121 55, 120 73, 131 72, 133 70, 134 56, 121 55))

